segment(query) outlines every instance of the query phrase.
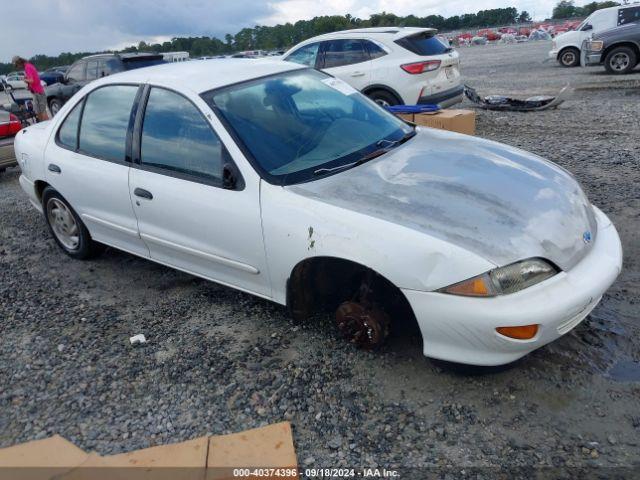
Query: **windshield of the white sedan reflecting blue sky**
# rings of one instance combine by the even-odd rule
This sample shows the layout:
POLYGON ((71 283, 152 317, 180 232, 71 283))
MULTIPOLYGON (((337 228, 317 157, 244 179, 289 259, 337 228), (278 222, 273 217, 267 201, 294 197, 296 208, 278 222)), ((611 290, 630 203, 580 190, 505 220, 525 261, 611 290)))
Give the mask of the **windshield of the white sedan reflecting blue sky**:
POLYGON ((304 69, 202 95, 273 183, 337 173, 399 144, 413 128, 348 84, 304 69))

